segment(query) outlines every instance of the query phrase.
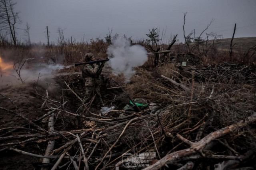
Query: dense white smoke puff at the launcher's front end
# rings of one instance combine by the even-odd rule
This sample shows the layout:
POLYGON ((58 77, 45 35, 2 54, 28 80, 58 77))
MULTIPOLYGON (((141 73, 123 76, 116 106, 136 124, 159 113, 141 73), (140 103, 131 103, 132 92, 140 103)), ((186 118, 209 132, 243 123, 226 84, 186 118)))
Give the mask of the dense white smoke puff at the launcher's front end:
POLYGON ((126 78, 136 73, 133 67, 141 66, 148 60, 144 47, 131 45, 129 40, 120 37, 108 47, 107 54, 113 57, 110 59, 113 73, 123 73, 126 78))

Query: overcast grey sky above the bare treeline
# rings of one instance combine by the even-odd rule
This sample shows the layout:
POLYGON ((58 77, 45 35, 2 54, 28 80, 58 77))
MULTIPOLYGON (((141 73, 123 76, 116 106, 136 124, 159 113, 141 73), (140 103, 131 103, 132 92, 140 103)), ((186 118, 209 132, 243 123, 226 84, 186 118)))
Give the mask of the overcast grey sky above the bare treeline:
MULTIPOLYGON (((224 38, 256 37, 256 0, 13 0, 14 10, 20 12, 24 29, 30 25, 31 42, 47 43, 46 26, 50 42, 56 42, 57 29, 64 29, 64 38, 76 41, 100 37, 104 39, 108 28, 115 33, 146 39, 148 29, 166 28, 165 38, 178 34, 183 38, 183 17, 186 15, 185 34, 195 29, 196 36, 212 19, 205 33, 216 32, 224 38)), ((24 40, 23 31, 18 38, 24 40)))

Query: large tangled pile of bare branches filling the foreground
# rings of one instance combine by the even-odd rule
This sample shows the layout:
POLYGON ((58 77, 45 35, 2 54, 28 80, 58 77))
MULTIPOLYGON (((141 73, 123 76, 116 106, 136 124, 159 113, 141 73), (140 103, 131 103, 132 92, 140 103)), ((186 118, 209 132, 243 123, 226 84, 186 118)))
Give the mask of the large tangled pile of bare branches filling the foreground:
MULTIPOLYGON (((49 103, 56 107, 47 107, 47 113, 36 120, 24 117, 18 107, 15 110, 0 107, 28 123, 23 127, 0 129, 6 132, 0 137, 1 151, 12 150, 43 158, 37 166, 52 170, 68 167, 75 170, 255 168, 256 152, 252 147, 256 142, 254 106, 244 108, 247 110, 241 114, 246 118, 226 126, 216 125, 223 108, 217 107, 222 94, 214 87, 196 89, 193 82, 190 87, 161 77, 167 82, 157 85, 162 91, 160 95, 172 103, 153 103, 151 106, 154 107, 139 112, 112 110, 114 115, 125 114, 124 117, 92 113, 90 103, 82 103, 68 84, 66 90, 82 103, 82 111, 68 109, 69 101, 55 101, 42 94, 38 94, 44 99, 42 108, 49 103), (24 134, 11 134, 14 130, 22 130, 24 134), (42 143, 47 144, 44 152, 28 151, 29 146, 42 143), (150 153, 150 157, 137 156, 142 153, 150 153)), ((6 99, 15 105, 11 99, 6 99)))

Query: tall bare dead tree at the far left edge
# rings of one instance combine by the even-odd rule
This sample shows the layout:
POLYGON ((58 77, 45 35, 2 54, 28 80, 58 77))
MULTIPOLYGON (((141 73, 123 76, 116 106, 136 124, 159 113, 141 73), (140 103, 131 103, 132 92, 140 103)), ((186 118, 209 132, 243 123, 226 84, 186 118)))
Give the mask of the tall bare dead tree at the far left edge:
POLYGON ((0 30, 11 35, 12 42, 16 45, 16 23, 20 23, 19 13, 14 12, 12 0, 0 0, 0 30))

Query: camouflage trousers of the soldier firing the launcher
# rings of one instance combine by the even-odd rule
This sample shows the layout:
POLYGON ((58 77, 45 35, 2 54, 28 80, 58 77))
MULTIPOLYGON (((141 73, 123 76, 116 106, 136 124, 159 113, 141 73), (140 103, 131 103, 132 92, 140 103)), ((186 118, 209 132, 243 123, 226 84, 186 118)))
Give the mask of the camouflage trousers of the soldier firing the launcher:
POLYGON ((88 103, 95 94, 96 94, 96 97, 98 97, 100 100, 100 103, 99 103, 100 106, 103 107, 104 103, 102 101, 102 98, 100 95, 100 87, 98 85, 85 87, 85 95, 84 95, 83 102, 88 103))

